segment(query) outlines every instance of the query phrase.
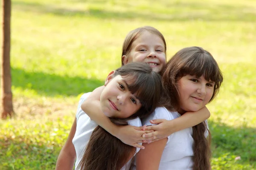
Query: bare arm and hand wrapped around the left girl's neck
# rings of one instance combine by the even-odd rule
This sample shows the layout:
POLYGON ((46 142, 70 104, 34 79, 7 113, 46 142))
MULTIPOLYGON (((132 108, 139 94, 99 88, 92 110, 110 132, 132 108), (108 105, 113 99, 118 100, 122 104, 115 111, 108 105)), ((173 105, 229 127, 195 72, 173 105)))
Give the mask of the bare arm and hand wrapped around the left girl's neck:
POLYGON ((110 119, 102 112, 100 107, 100 94, 102 93, 104 87, 96 88, 90 96, 82 103, 81 109, 98 125, 107 130, 111 135, 116 136, 125 144, 139 147, 144 149, 143 146, 137 143, 143 142, 144 138, 142 135, 144 133, 150 133, 149 131, 142 131, 142 127, 136 126, 117 126, 113 124, 110 119))

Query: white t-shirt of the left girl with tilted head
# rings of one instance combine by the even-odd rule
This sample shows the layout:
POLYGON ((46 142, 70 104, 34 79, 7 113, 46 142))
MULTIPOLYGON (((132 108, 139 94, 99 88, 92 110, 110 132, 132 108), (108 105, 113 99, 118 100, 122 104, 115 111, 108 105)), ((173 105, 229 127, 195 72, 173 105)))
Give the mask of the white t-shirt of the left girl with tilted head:
MULTIPOLYGON (((93 133, 93 130, 95 129, 95 127, 98 126, 81 109, 81 104, 84 102, 84 100, 90 94, 91 94, 91 92, 83 94, 81 96, 81 98, 79 100, 78 108, 77 108, 77 111, 76 111, 76 133, 75 133, 75 136, 72 140, 72 142, 74 144, 74 147, 75 147, 75 150, 76 150, 76 164, 75 164, 75 167, 78 166, 79 161, 81 160, 81 158, 83 156, 84 147, 89 142, 89 139, 90 139, 91 134, 93 133)), ((141 126, 140 118, 129 120, 128 124, 132 125, 132 126, 141 126)), ((140 148, 136 148, 136 153, 139 152, 139 150, 140 150, 140 148)), ((131 164, 131 160, 128 161, 128 163, 126 164, 125 167, 130 167, 130 164, 131 164)), ((123 167, 122 170, 125 170, 125 167, 123 167)))

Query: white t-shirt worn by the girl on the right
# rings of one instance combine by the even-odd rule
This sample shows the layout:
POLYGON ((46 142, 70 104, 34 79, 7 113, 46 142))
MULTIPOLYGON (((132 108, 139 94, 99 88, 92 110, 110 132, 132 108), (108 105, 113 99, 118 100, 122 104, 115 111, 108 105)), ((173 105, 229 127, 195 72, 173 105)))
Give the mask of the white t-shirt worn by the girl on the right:
MULTIPOLYGON (((152 119, 172 120, 180 117, 177 112, 170 112, 164 107, 156 108, 154 113, 142 120, 143 125, 152 125, 152 119)), ((163 150, 159 170, 192 170, 193 143, 192 127, 172 133, 168 136, 163 150)))

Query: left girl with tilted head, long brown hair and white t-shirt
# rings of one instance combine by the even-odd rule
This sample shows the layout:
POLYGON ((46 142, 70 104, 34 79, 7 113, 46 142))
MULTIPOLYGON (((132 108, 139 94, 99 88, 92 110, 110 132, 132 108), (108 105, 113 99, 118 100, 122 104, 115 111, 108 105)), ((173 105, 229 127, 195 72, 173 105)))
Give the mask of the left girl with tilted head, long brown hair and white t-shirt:
MULTIPOLYGON (((96 91, 101 91, 97 100, 101 111, 111 122, 119 126, 141 126, 140 118, 148 116, 156 108, 162 84, 160 75, 148 64, 132 62, 111 71, 105 85, 96 91)), ((75 158, 76 170, 129 169, 135 148, 109 134, 81 110, 81 103, 89 95, 81 96, 76 119, 58 157, 56 169, 72 170, 75 158), (127 162, 128 168, 125 166, 127 162)))

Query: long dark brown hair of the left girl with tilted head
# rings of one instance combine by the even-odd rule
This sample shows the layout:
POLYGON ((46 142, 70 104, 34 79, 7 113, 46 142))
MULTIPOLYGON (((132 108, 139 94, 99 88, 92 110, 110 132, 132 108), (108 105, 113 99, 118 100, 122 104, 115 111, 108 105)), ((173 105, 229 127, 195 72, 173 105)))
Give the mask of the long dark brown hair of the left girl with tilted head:
MULTIPOLYGON (((114 74, 121 75, 127 82, 129 91, 136 93, 142 107, 126 119, 110 118, 116 125, 128 125, 127 120, 145 117, 154 111, 161 98, 161 77, 152 68, 143 62, 131 62, 118 68, 114 74)), ((84 150, 78 168, 81 170, 120 170, 130 157, 135 153, 135 148, 124 144, 105 129, 97 126, 84 150)))

